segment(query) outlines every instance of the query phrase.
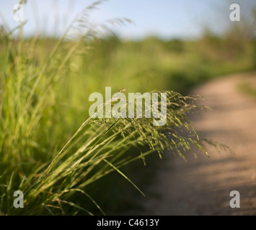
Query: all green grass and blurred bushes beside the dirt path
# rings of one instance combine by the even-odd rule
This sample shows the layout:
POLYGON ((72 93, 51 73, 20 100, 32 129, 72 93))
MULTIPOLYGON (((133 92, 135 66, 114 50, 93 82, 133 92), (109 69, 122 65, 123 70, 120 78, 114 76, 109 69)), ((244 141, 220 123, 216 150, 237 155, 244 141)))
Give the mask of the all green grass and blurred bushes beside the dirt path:
POLYGON ((127 177, 138 167, 125 167, 126 175, 125 165, 143 164, 149 154, 162 157, 166 148, 184 159, 192 145, 207 153, 187 119, 200 107, 180 93, 254 64, 250 42, 234 53, 232 47, 230 55, 229 42, 213 36, 123 42, 115 36, 99 40, 97 28, 89 27, 74 41, 69 29, 57 40, 25 39, 22 25, 16 38, 6 25, 1 28, 0 210, 7 215, 108 213, 105 207, 118 204, 113 194, 125 190, 117 175, 139 190, 127 177), (167 126, 89 118, 89 94, 103 93, 105 86, 167 91, 167 126), (23 191, 25 208, 13 207, 14 190, 23 191))

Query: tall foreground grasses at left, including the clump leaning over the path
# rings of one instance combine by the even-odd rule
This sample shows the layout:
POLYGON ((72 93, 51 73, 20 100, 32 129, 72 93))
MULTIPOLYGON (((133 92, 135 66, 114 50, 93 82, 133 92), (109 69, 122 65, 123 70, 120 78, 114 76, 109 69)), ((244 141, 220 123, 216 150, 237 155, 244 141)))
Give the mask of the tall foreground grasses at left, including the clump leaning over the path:
POLYGON ((124 165, 145 160, 152 153, 162 157, 164 149, 172 149, 185 160, 182 151, 190 151, 192 145, 207 154, 187 119, 190 112, 203 108, 196 105, 195 98, 174 91, 166 91, 165 126, 153 126, 153 120, 145 118, 89 117, 70 137, 64 117, 76 119, 76 114, 65 114, 59 104, 59 88, 72 71, 71 59, 88 50, 90 42, 99 37, 99 27, 89 24, 88 17, 101 2, 74 19, 43 65, 36 58, 38 37, 24 40, 22 24, 17 28, 18 38, 7 26, 4 28, 4 55, 0 58, 1 214, 70 215, 81 211, 92 215, 86 206, 89 202, 105 214, 93 194, 87 193, 87 186, 110 172, 118 172, 142 193, 123 174, 124 165), (79 29, 76 42, 68 40, 74 27, 79 29), (128 155, 131 148, 138 149, 138 155, 128 155), (25 208, 13 207, 15 190, 24 193, 25 208), (74 199, 78 193, 84 195, 84 201, 74 199))

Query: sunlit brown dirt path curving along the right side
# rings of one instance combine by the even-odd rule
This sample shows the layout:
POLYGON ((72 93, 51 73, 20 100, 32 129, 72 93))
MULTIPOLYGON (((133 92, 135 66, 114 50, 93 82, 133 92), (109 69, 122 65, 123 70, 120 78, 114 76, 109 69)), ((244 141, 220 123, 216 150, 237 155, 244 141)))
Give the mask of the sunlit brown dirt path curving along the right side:
MULTIPOLYGON (((170 156, 144 199, 148 215, 256 215, 256 101, 237 85, 253 74, 219 78, 195 88, 215 108, 193 119, 208 139, 228 144, 235 154, 209 147, 210 159, 170 156), (238 190, 240 208, 230 208, 229 193, 238 190)), ((256 73, 254 74, 256 82, 256 73)))

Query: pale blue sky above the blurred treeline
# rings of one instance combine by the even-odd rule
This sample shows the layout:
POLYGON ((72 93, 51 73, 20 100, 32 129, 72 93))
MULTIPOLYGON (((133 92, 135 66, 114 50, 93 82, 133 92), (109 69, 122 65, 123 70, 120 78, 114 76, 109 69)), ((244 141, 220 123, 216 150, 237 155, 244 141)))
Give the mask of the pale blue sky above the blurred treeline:
MULTIPOLYGON (((0 0, 0 12, 9 27, 17 26, 13 6, 18 0, 0 0)), ((45 33, 61 35, 67 24, 92 0, 27 0, 24 6, 25 35, 45 33)), ((147 35, 198 37, 208 25, 221 31, 229 22, 229 5, 221 0, 109 0, 92 14, 92 22, 125 17, 135 24, 115 27, 124 39, 140 39, 147 35), (226 20, 226 21, 225 21, 226 20)), ((0 18, 1 23, 1 18, 0 18)))

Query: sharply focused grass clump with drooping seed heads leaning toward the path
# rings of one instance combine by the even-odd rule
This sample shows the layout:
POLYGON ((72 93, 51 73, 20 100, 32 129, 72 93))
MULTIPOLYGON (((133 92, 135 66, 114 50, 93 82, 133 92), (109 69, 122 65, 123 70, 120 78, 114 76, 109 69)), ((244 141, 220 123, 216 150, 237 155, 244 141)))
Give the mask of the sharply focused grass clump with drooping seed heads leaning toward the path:
MULTIPOLYGON (((33 172, 23 178, 19 189, 25 193, 25 208, 20 211, 9 208, 8 214, 66 213, 66 206, 85 208, 69 201, 76 193, 84 194, 87 185, 117 171, 133 184, 121 171, 121 167, 134 160, 144 160, 146 155, 157 152, 162 157, 164 149, 172 149, 185 160, 182 150, 189 151, 192 145, 206 152, 187 114, 198 109, 191 100, 173 91, 167 92, 167 126, 153 126, 152 119, 92 119, 89 117, 64 145, 50 163, 35 165, 33 172), (188 103, 190 101, 190 103, 188 103), (137 156, 125 155, 132 147, 148 146, 137 156), (52 210, 53 209, 53 210, 52 210)), ((12 178, 17 175, 16 170, 12 178)), ((133 184, 138 190, 139 188, 133 184)), ((14 187, 12 180, 6 185, 6 193, 14 187)), ((141 192, 141 190, 139 190, 141 192)), ((142 192, 141 192, 142 193, 142 192)), ((142 193, 143 194, 143 193, 142 193)), ((5 200, 5 199, 4 199, 5 200)), ((4 201, 3 200, 3 201, 4 201)), ((103 212, 102 212, 103 213, 103 212)))

